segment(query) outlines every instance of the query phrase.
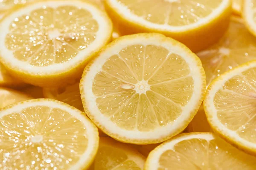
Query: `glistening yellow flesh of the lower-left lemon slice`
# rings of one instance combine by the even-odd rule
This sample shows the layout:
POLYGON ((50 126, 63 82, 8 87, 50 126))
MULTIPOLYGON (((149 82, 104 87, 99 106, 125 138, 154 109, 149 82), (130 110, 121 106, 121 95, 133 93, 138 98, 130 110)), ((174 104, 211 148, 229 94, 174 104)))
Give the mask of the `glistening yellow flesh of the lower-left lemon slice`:
POLYGON ((0 118, 1 169, 69 169, 86 149, 83 123, 59 108, 32 106, 0 118))

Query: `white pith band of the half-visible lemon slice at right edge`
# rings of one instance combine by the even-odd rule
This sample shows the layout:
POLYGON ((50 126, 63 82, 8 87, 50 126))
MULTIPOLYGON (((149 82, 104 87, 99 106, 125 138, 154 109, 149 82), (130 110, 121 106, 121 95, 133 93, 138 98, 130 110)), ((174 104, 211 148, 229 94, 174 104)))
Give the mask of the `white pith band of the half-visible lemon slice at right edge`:
POLYGON ((208 95, 204 101, 204 105, 206 106, 206 111, 208 117, 209 123, 214 127, 214 129, 218 130, 219 133, 225 136, 227 139, 232 139, 232 141, 235 141, 236 143, 241 144, 244 147, 247 148, 253 148, 256 150, 256 144, 253 142, 249 142, 246 139, 241 138, 236 131, 228 129, 225 125, 223 125, 217 116, 217 109, 215 108, 214 105, 214 97, 215 94, 218 92, 218 90, 222 89, 222 86, 227 82, 227 80, 231 79, 232 77, 241 74, 242 72, 250 69, 250 68, 255 68, 256 67, 256 62, 252 62, 249 65, 244 65, 242 67, 238 67, 233 69, 232 71, 228 72, 227 74, 222 75, 221 77, 218 78, 218 81, 215 81, 212 83, 210 86, 210 90, 208 91, 208 95))

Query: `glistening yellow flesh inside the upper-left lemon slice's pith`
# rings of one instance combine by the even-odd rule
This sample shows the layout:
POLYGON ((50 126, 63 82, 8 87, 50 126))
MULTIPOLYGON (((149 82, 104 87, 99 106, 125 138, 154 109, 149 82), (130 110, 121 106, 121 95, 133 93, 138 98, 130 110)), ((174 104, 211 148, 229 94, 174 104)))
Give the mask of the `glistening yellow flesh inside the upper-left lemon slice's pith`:
POLYGON ((15 18, 6 35, 14 57, 35 66, 67 62, 96 38, 98 23, 75 6, 38 8, 15 18))

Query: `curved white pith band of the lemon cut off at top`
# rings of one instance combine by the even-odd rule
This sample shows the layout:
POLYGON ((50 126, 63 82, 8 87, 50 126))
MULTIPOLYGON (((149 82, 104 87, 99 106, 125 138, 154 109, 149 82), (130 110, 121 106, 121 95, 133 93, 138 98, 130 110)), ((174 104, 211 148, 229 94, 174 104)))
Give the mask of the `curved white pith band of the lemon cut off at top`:
MULTIPOLYGON (((167 0, 166 0, 167 1, 167 0)), ((168 0, 169 1, 169 0, 168 0)), ((171 0, 174 1, 174 0, 171 0)), ((180 31, 188 31, 198 27, 201 27, 207 23, 210 23, 216 17, 221 15, 223 11, 230 5, 230 0, 223 0, 222 3, 216 8, 211 14, 207 17, 201 18, 198 22, 192 23, 186 26, 170 26, 170 25, 160 25, 156 23, 151 23, 147 20, 144 20, 142 17, 138 17, 137 15, 131 13, 126 6, 123 6, 119 3, 118 0, 108 0, 111 4, 112 8, 115 9, 122 17, 125 19, 132 21, 133 23, 137 23, 138 25, 145 26, 147 28, 158 29, 161 31, 172 31, 172 32, 180 32, 180 31)), ((172 2, 170 2, 172 3, 172 2)))

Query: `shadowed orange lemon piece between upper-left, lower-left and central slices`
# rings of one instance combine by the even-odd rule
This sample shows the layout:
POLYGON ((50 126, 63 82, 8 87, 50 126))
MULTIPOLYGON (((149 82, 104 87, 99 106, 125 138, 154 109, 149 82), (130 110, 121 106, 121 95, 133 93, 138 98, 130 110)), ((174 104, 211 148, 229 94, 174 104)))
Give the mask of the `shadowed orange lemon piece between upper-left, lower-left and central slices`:
POLYGON ((79 82, 60 88, 44 88, 44 97, 67 103, 80 111, 84 111, 79 91, 79 82))

